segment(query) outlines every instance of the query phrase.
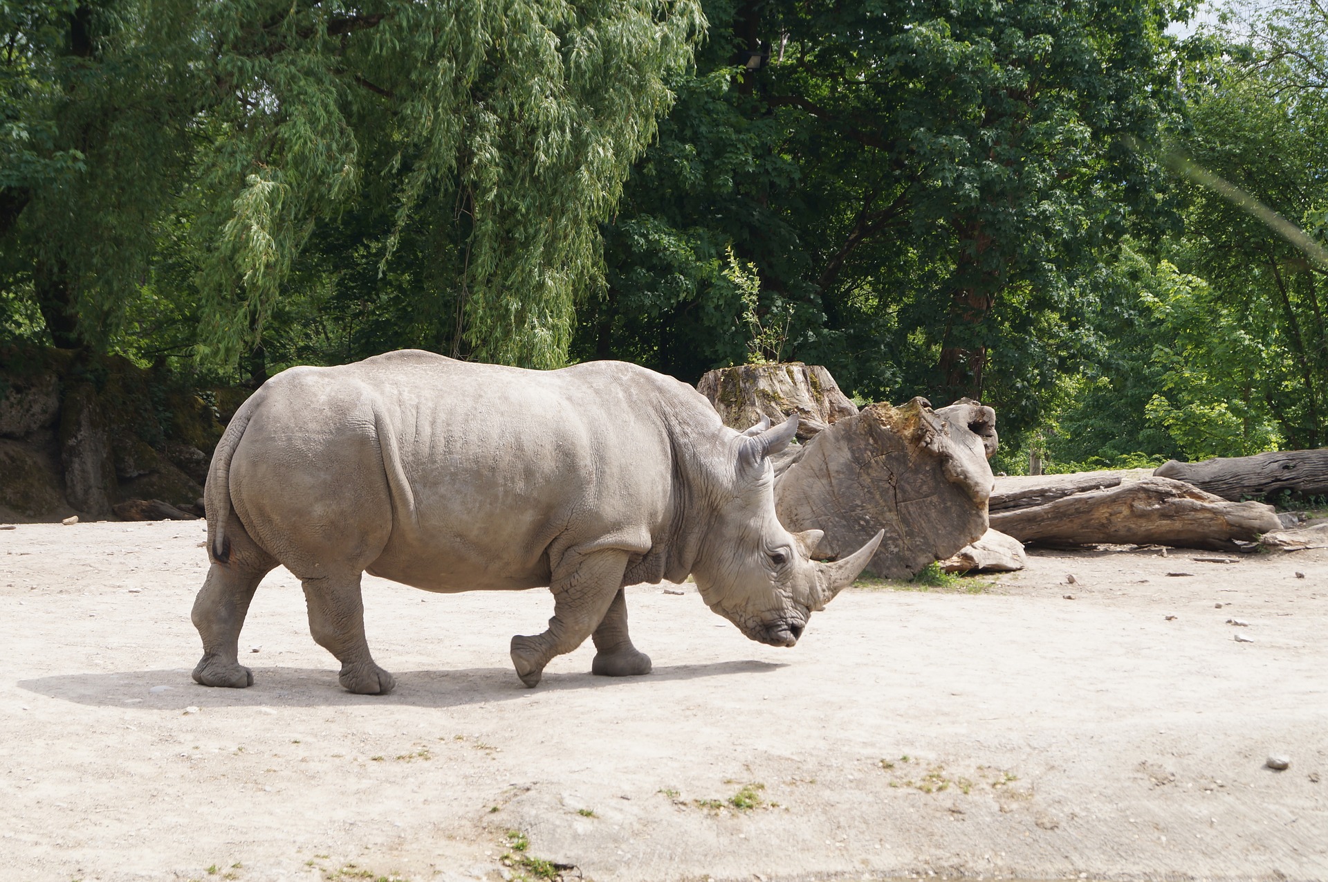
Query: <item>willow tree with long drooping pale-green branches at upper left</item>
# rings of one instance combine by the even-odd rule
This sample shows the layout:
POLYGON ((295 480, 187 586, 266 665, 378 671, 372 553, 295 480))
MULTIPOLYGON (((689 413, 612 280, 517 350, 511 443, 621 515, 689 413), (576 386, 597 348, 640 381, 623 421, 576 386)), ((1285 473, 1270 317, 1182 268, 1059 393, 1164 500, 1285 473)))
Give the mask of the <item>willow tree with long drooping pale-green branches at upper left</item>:
POLYGON ((39 159, 72 158, 0 182, 23 203, 0 231, 11 286, 57 344, 105 340, 166 242, 199 352, 234 363, 311 235, 369 201, 393 217, 384 271, 448 206, 433 230, 463 259, 437 283, 470 351, 551 367, 704 19, 695 0, 104 0, 5 5, 4 25, 7 109, 49 134, 39 159))

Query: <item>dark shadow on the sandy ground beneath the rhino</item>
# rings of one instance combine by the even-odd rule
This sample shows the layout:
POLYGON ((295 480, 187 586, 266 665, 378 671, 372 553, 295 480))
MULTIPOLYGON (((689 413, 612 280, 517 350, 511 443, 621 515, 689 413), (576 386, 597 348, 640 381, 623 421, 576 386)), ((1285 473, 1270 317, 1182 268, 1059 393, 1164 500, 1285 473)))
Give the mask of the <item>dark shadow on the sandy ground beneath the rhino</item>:
POLYGON ((124 671, 117 673, 64 673, 19 680, 21 689, 74 704, 183 711, 198 707, 307 708, 405 704, 452 708, 486 701, 513 701, 550 692, 648 684, 657 680, 762 673, 786 667, 774 662, 712 662, 656 667, 640 677, 598 677, 590 673, 544 673, 538 688, 527 689, 510 667, 457 671, 398 671, 388 695, 353 695, 337 683, 336 668, 254 667, 254 685, 246 689, 210 688, 190 679, 189 668, 124 671), (155 689, 155 691, 154 691, 155 689))

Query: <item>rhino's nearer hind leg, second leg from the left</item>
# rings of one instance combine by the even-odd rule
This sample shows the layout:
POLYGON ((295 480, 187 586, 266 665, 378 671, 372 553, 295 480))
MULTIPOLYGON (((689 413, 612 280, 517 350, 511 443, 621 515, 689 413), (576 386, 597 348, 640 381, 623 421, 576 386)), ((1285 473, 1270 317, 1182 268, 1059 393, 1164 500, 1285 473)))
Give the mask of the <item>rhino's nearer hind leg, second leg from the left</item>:
POLYGON ((364 639, 364 599, 360 573, 301 579, 309 608, 309 634, 341 663, 337 677, 349 692, 386 695, 396 685, 390 673, 373 663, 364 639))

